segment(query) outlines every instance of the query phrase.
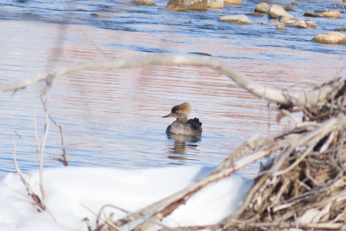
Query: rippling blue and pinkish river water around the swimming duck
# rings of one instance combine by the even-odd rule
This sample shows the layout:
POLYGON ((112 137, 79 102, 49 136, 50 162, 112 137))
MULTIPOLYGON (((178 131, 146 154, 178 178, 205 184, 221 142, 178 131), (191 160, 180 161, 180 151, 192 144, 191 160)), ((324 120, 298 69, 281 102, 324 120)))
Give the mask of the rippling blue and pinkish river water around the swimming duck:
MULTIPOLYGON (((166 1, 155 2, 157 7, 166 5, 166 1)), ((54 66, 105 55, 126 59, 146 53, 189 52, 209 53, 277 89, 298 90, 338 76, 345 64, 346 46, 311 39, 342 27, 345 15, 339 19, 302 17, 305 11, 334 9, 333 2, 298 1, 296 10, 290 12, 315 21, 317 28, 279 31, 274 26, 277 21, 267 17, 249 16, 253 25, 246 26, 217 20, 252 12, 257 3, 243 0, 240 6, 224 9, 172 12, 118 1, 0 1, 0 80, 27 78, 54 66), (184 23, 190 20, 191 24, 184 23), (62 21, 70 25, 58 24, 62 21)), ((40 82, 13 97, 12 92, 1 96, 0 177, 14 171, 13 137, 21 169, 37 168, 34 113, 37 110, 41 136, 45 118, 39 94, 43 87, 40 82)), ((268 135, 286 127, 274 122, 275 112, 268 112, 267 102, 223 74, 195 67, 146 66, 69 74, 54 82, 48 108, 63 126, 69 164, 79 166, 213 166, 256 133, 268 135), (173 118, 162 116, 185 101, 192 105, 191 117, 203 123, 202 137, 197 140, 182 141, 165 134, 173 118)), ((61 166, 49 158, 62 153, 60 133, 52 123, 49 130, 45 166, 61 166)), ((248 166, 242 173, 254 174, 257 167, 248 166)))

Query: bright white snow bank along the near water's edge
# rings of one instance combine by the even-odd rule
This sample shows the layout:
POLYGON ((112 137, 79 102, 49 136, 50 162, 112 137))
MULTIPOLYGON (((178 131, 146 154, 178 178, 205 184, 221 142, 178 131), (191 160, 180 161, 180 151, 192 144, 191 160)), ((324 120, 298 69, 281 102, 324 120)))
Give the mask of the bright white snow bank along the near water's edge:
MULTIPOLYGON (((146 169, 111 169, 66 167, 44 169, 48 212, 39 213, 30 204, 19 176, 8 174, 0 182, 0 230, 87 230, 85 217, 95 228, 96 216, 103 205, 111 204, 136 212, 168 197, 208 175, 213 168, 202 166, 146 169), (84 206, 83 206, 84 205, 84 206), (56 222, 54 221, 54 219, 56 222)), ((38 170, 27 172, 26 180, 41 197, 38 170)), ((239 175, 212 183, 177 208, 163 223, 172 227, 215 224, 234 212, 243 203, 253 181, 239 175)), ((115 208, 115 219, 126 214, 115 208)), ((114 219, 113 219, 114 220, 114 219)), ((132 227, 134 228, 132 224, 132 227)), ((123 230, 128 230, 124 225, 123 230)))

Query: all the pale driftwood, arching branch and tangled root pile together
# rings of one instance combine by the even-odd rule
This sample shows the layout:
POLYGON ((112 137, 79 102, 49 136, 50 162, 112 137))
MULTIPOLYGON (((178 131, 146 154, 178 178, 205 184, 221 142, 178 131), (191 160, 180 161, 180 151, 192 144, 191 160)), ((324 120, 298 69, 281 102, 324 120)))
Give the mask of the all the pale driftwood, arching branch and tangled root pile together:
MULTIPOLYGON (((144 65, 193 65, 215 69, 228 75, 255 96, 277 103, 278 120, 289 116, 297 122, 297 126, 264 139, 249 139, 206 178, 168 198, 129 213, 124 219, 112 221, 112 215, 104 215, 104 224, 98 223, 96 230, 118 230, 118 227, 135 219, 144 222, 133 231, 146 230, 153 224, 161 225, 163 230, 171 229, 160 221, 198 190, 271 154, 275 154, 275 158, 262 169, 244 205, 237 212, 223 219, 220 217, 222 220, 218 224, 179 229, 346 229, 346 117, 343 117, 346 112, 346 86, 340 79, 325 83, 312 91, 290 92, 259 85, 245 74, 212 57, 148 55, 127 60, 89 60, 66 65, 33 78, 0 83, 0 90, 17 91, 45 80, 45 93, 51 88, 54 79, 67 73, 144 65), (292 112, 301 112, 302 119, 296 118, 292 112), (148 214, 153 214, 150 219, 144 217, 148 214)), ((101 213, 100 211, 98 218, 101 213)), ((89 220, 85 221, 88 223, 89 220)), ((91 229, 90 222, 88 229, 91 229)))

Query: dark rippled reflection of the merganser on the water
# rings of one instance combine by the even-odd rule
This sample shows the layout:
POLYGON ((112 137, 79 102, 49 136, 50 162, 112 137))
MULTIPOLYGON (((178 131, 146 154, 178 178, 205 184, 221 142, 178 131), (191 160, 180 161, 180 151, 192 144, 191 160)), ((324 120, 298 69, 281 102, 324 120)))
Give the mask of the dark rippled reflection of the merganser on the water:
MULTIPOLYGON (((192 135, 181 135, 181 134, 167 134, 167 138, 170 140, 174 140, 174 145, 172 142, 167 143, 167 148, 169 149, 169 153, 172 154, 180 154, 180 155, 195 155, 189 153, 189 150, 195 149, 197 150, 197 143, 201 141, 200 136, 192 136, 192 135)), ((186 156, 168 156, 169 159, 175 160, 190 160, 186 156)))

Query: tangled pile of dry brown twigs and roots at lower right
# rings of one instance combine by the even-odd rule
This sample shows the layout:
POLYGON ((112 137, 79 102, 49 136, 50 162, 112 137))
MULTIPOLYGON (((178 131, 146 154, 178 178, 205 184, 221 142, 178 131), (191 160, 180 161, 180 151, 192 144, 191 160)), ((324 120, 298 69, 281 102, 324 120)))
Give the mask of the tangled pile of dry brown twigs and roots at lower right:
POLYGON ((220 223, 223 229, 346 229, 345 85, 329 84, 334 91, 325 102, 299 108, 306 122, 256 147, 281 152, 262 169, 243 207, 220 223), (292 143, 278 145, 283 139, 292 143))

